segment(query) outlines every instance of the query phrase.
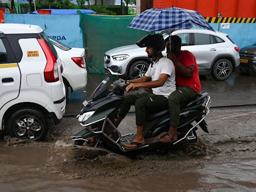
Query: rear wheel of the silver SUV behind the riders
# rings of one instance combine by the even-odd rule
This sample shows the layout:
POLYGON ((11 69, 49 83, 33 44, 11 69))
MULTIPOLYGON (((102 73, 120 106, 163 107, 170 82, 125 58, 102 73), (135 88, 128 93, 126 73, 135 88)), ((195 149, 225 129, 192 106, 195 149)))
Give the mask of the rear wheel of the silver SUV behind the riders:
POLYGON ((221 58, 214 63, 211 75, 217 80, 225 80, 232 74, 232 71, 233 66, 230 60, 221 58))

